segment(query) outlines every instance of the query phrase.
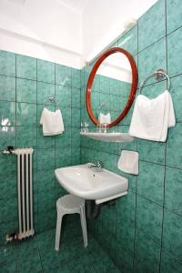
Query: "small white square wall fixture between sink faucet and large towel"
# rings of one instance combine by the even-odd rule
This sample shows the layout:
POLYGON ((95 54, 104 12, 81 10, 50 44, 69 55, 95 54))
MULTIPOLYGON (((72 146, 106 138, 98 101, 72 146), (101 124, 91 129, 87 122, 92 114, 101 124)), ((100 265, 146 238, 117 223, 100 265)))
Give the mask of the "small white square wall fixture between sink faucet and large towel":
POLYGON ((138 175, 138 157, 137 152, 122 150, 117 162, 118 169, 127 174, 138 175))

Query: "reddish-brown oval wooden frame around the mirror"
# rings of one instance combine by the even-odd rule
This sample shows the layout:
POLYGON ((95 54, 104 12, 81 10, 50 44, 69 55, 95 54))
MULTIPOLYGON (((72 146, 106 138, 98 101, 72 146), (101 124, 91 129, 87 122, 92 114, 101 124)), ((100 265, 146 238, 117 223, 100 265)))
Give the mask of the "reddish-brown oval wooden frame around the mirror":
POLYGON ((117 52, 124 54, 130 63, 131 70, 132 70, 132 84, 131 84, 131 90, 130 90, 129 97, 126 102, 126 106, 123 109, 121 115, 118 116, 116 118, 116 120, 114 120, 112 123, 108 124, 107 127, 116 126, 116 124, 119 123, 127 115, 130 107, 133 104, 135 96, 136 96, 138 76, 137 76, 136 62, 135 62, 133 56, 131 56, 125 49, 123 49, 121 47, 113 47, 113 48, 106 50, 106 52, 104 52, 97 59, 96 64, 93 66, 93 68, 90 72, 90 76, 88 77, 87 86, 86 86, 86 109, 87 109, 88 115, 90 116, 91 120, 96 125, 99 124, 99 121, 94 116, 93 111, 92 111, 92 106, 91 106, 91 91, 92 91, 92 85, 94 82, 94 78, 96 76, 96 71, 97 71, 98 67, 102 64, 102 62, 106 59, 107 56, 110 56, 110 55, 117 53, 117 52))

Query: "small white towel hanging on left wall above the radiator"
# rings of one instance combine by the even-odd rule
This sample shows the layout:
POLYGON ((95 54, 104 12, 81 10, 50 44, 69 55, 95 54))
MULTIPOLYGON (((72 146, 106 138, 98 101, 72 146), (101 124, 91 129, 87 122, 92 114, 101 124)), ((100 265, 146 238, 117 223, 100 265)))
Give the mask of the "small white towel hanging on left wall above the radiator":
POLYGON ((51 112, 44 108, 40 124, 43 126, 44 136, 56 136, 65 131, 63 117, 59 109, 56 112, 51 112))

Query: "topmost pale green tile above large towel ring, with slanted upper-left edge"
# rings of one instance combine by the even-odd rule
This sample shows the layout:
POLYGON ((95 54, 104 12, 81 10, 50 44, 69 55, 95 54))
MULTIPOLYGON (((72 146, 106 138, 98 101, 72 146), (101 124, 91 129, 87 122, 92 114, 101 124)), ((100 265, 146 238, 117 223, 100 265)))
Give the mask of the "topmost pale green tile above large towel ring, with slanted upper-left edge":
POLYGON ((138 50, 157 42, 165 35, 165 0, 159 0, 138 20, 138 50))

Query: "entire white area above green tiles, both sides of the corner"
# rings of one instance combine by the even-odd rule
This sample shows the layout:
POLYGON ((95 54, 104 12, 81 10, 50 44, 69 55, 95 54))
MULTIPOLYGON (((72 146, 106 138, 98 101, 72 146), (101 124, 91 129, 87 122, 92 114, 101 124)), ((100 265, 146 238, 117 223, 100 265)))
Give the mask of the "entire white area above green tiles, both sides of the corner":
POLYGON ((157 0, 0 0, 0 49, 82 67, 157 0))

